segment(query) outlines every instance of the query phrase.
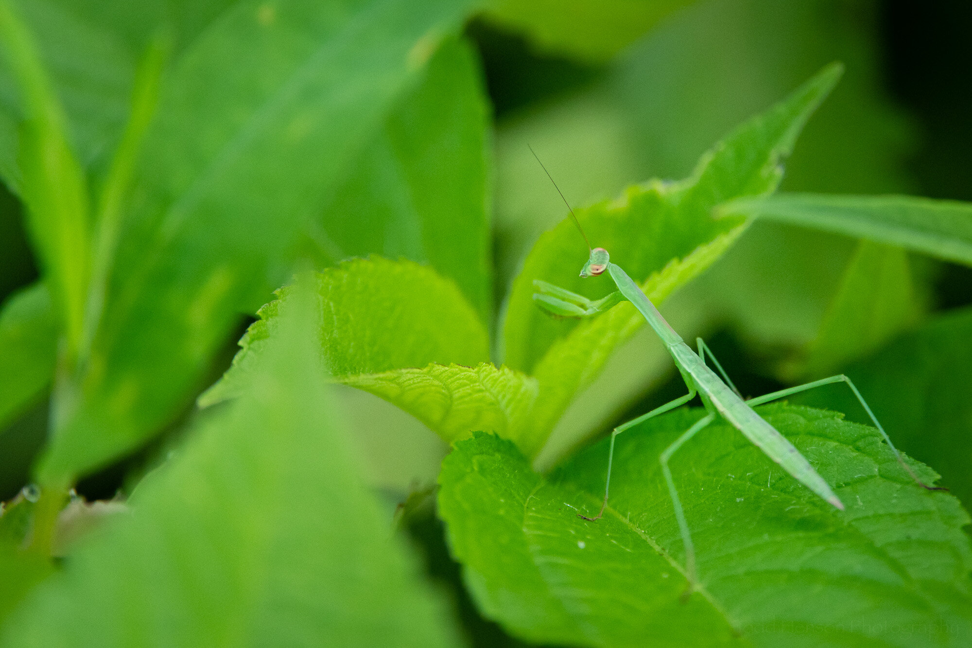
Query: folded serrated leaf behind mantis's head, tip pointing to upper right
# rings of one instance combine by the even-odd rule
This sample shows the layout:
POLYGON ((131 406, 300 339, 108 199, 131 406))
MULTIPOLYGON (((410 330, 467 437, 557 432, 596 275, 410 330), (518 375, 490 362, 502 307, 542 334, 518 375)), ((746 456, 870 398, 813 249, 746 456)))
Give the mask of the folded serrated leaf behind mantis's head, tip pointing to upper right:
MULTIPOLYGON (((594 245, 642 282, 656 305, 678 286, 706 270, 742 234, 745 224, 712 219, 712 208, 739 196, 776 189, 781 161, 800 128, 841 75, 825 68, 762 116, 736 130, 703 156, 692 177, 678 183, 651 181, 615 201, 577 210, 594 245)), ((603 369, 609 353, 643 325, 633 306, 622 304, 593 320, 554 320, 533 301, 533 281, 542 279, 591 298, 613 286, 582 280, 583 243, 573 223, 540 237, 513 283, 505 322, 505 362, 539 381, 537 438, 545 440, 577 390, 603 369)), ((539 450, 539 447, 536 449, 539 450)))

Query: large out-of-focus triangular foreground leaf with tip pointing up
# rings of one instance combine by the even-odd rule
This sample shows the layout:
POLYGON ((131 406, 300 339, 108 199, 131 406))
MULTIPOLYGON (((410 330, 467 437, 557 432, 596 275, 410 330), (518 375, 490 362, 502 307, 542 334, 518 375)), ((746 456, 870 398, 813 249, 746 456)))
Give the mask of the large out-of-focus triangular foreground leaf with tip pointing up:
POLYGON ((301 289, 252 390, 34 590, 3 645, 456 643, 334 420, 301 289))

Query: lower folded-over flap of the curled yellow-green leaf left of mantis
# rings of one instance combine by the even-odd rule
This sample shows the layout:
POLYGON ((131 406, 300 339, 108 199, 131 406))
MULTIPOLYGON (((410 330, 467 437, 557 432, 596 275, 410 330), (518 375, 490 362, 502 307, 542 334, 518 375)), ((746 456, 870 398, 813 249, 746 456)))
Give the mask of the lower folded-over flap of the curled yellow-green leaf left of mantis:
POLYGON ((341 379, 394 403, 446 442, 473 431, 493 432, 521 448, 533 448, 532 416, 537 380, 489 363, 475 367, 431 364, 341 379))

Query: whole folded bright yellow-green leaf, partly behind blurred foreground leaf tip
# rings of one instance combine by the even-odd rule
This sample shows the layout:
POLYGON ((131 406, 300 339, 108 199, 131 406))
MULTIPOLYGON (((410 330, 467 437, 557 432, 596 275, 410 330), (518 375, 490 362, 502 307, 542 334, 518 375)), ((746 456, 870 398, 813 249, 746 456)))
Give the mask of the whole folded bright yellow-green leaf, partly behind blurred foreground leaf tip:
MULTIPOLYGON (((486 331, 456 285, 418 264, 354 259, 316 275, 323 311, 321 350, 332 378, 379 396, 445 441, 473 430, 523 448, 536 440, 537 381, 488 359, 486 331), (466 365, 466 366, 463 366, 466 365)), ((269 341, 291 289, 260 308, 226 375, 199 397, 208 407, 241 393, 269 341)))

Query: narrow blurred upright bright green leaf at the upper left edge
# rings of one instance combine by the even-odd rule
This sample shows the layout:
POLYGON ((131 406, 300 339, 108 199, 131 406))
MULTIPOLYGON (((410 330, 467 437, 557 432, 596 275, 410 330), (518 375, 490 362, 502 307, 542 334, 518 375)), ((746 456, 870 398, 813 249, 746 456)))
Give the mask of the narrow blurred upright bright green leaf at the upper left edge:
POLYGON ((71 150, 67 120, 33 35, 9 0, 0 2, 0 41, 20 92, 20 194, 66 351, 73 356, 81 343, 90 271, 87 179, 71 150))

